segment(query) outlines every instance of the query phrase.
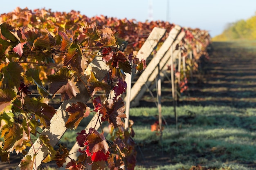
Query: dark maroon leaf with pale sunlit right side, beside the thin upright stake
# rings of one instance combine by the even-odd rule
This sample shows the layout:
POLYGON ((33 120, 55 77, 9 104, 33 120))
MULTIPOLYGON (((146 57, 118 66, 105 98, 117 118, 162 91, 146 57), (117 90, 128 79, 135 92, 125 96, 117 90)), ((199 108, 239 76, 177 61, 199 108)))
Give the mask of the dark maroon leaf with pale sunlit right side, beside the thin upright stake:
POLYGON ((107 112, 101 112, 103 114, 102 119, 108 120, 109 123, 112 123, 115 128, 121 124, 121 118, 126 118, 126 114, 124 114, 125 106, 123 99, 120 97, 115 99, 108 99, 105 103, 103 103, 104 108, 106 108, 107 112))

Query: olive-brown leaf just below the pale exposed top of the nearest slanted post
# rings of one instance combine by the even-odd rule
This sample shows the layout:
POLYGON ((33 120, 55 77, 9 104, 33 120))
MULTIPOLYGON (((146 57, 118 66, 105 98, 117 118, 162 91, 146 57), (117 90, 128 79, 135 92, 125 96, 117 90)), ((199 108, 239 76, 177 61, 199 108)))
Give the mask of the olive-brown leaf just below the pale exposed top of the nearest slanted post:
POLYGON ((111 87, 108 84, 105 84, 103 82, 99 82, 96 77, 94 76, 94 73, 92 72, 90 75, 90 78, 87 80, 88 89, 90 94, 93 96, 97 91, 104 90, 106 92, 109 92, 111 87))

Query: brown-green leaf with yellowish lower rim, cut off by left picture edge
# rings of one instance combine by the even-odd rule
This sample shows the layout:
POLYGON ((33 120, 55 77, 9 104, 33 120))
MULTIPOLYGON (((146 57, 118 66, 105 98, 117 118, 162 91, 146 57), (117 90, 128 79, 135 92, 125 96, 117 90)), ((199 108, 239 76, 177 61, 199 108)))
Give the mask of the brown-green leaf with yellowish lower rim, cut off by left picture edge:
POLYGON ((16 98, 14 91, 11 89, 0 89, 0 113, 16 98))

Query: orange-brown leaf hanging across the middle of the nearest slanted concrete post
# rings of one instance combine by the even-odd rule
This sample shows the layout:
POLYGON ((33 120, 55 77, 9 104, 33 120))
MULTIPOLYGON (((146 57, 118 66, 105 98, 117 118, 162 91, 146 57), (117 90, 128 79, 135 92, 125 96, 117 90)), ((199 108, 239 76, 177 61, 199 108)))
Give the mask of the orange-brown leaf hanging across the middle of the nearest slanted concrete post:
POLYGON ((69 106, 66 111, 70 113, 65 124, 66 128, 76 129, 81 120, 90 115, 90 108, 82 102, 77 102, 77 104, 72 103, 72 106, 69 106))

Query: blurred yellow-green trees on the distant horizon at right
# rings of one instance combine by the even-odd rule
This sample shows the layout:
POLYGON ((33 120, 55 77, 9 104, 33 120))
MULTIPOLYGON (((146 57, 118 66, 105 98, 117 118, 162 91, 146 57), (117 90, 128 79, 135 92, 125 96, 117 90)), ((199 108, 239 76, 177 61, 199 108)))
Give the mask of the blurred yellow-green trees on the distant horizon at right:
POLYGON ((247 20, 229 23, 227 28, 212 41, 256 40, 256 13, 247 20))

